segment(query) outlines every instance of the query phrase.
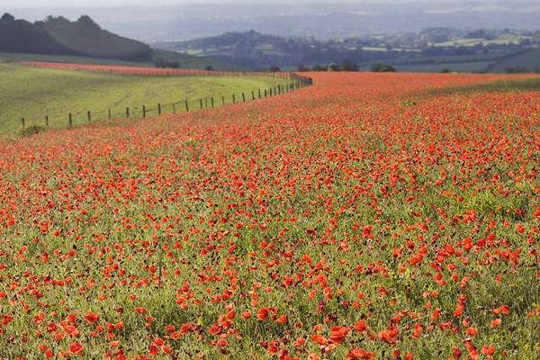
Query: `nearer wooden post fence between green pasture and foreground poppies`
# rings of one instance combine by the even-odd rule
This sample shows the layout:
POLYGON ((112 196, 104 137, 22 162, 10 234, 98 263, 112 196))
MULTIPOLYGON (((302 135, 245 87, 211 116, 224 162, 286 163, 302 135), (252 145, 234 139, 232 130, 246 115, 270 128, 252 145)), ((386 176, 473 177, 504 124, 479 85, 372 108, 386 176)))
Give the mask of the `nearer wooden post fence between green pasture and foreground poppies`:
MULTIPOLYGON (((67 112, 67 129, 73 129, 74 120, 77 116, 84 117, 86 122, 88 123, 99 120, 130 119, 131 117, 140 117, 144 119, 148 116, 160 115, 165 112, 193 112, 194 110, 209 109, 218 106, 224 106, 226 104, 246 103, 248 101, 261 100, 275 95, 288 94, 295 90, 299 90, 302 87, 313 85, 313 79, 311 77, 300 76, 294 73, 282 74, 286 74, 287 78, 292 81, 287 82, 286 84, 270 86, 266 89, 258 88, 257 90, 251 90, 250 92, 242 92, 240 93, 240 97, 237 97, 237 94, 234 93, 230 94, 229 98, 227 98, 225 95, 221 95, 220 98, 214 97, 214 95, 209 95, 196 99, 185 98, 184 100, 175 103, 155 103, 151 107, 148 106, 148 104, 131 107, 127 106, 125 110, 120 110, 116 112, 113 112, 112 109, 106 109, 98 112, 92 112, 90 110, 80 112, 67 112)), ((50 119, 51 118, 49 115, 34 117, 33 121, 31 121, 31 125, 40 126, 38 122, 43 121, 45 125, 44 127, 49 128, 50 119), (36 120, 36 118, 39 119, 36 120)), ((83 121, 78 122, 82 123, 83 121)), ((22 117, 21 126, 23 130, 27 129, 28 124, 28 119, 22 117)))

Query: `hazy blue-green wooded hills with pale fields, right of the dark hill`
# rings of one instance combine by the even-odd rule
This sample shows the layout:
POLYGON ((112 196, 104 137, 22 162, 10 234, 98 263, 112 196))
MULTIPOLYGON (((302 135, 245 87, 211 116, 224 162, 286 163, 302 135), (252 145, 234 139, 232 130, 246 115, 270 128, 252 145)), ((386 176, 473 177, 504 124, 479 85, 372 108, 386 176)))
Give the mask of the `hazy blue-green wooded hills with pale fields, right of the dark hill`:
MULTIPOLYGON (((430 28, 418 33, 374 34, 347 39, 316 40, 280 37, 258 31, 232 31, 220 36, 155 43, 197 57, 213 58, 252 69, 277 66, 369 70, 383 63, 412 72, 535 71, 538 67, 540 31, 457 30, 430 28), (506 60, 527 52, 507 64, 506 60), (501 60, 504 63, 497 65, 501 60), (497 65, 497 67, 496 67, 497 65)), ((350 71, 350 70, 349 70, 350 71)))

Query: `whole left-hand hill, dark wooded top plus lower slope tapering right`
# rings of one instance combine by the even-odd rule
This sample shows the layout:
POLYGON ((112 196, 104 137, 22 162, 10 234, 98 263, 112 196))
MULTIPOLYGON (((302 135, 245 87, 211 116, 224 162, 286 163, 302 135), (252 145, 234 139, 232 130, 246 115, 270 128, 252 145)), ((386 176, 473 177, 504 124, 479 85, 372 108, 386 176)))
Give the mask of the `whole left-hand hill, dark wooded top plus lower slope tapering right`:
POLYGON ((4 14, 0 18, 0 58, 10 61, 116 62, 138 66, 166 61, 184 68, 238 69, 211 58, 151 49, 143 42, 103 30, 86 15, 75 22, 62 16, 48 16, 43 21, 30 23, 4 14))

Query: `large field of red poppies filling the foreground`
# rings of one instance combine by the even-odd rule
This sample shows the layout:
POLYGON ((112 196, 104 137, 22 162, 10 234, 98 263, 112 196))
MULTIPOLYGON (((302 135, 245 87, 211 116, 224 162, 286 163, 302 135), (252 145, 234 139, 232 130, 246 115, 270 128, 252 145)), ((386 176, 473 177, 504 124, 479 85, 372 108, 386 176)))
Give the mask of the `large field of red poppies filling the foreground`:
POLYGON ((540 80, 310 76, 1 141, 0 358, 539 358, 540 80))

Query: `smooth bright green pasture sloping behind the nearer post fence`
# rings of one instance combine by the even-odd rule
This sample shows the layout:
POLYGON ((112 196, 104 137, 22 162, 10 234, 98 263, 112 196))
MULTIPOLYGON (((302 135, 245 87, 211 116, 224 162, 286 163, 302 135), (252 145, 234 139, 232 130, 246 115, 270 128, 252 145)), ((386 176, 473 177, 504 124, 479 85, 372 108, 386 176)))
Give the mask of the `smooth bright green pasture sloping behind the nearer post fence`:
MULTIPOLYGON (((191 109, 200 107, 200 98, 221 96, 232 101, 231 94, 240 98, 242 92, 251 93, 258 88, 284 82, 283 79, 266 77, 148 77, 95 74, 80 71, 21 67, 0 64, 0 132, 19 130, 24 117, 26 125, 67 126, 67 113, 72 112, 73 124, 87 122, 87 111, 92 119, 125 117, 126 107, 130 115, 140 117, 145 104, 150 115, 157 113, 157 103, 175 103, 190 100, 191 109)), ((184 105, 176 110, 184 111, 184 105)), ((163 107, 173 112, 172 105, 163 107)))

